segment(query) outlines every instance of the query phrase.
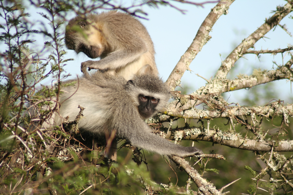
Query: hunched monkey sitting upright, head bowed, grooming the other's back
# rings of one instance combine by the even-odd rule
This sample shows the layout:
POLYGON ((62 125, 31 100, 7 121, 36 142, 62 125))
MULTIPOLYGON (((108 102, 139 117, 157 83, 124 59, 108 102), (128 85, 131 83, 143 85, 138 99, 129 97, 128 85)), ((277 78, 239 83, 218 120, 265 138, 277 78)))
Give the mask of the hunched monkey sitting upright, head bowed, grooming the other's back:
POLYGON ((158 75, 151 37, 142 23, 128 14, 109 11, 76 16, 66 27, 65 44, 77 54, 100 57, 81 63, 81 69, 107 69, 126 80, 137 73, 158 75))

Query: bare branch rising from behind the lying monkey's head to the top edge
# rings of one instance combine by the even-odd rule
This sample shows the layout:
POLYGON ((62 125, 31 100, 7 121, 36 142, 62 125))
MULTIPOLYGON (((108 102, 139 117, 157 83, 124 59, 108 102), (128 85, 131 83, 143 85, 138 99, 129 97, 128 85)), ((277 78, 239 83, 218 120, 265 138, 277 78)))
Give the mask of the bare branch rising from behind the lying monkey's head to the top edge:
POLYGON ((202 49, 202 47, 207 43, 207 41, 211 38, 209 32, 212 30, 212 27, 219 19, 219 17, 228 12, 229 6, 235 0, 221 0, 212 11, 207 15, 193 42, 186 50, 186 52, 181 56, 179 62, 173 69, 171 75, 166 81, 168 86, 170 86, 171 90, 174 90, 176 86, 180 83, 180 79, 183 76, 185 70, 189 69, 190 63, 193 61, 198 52, 202 49))

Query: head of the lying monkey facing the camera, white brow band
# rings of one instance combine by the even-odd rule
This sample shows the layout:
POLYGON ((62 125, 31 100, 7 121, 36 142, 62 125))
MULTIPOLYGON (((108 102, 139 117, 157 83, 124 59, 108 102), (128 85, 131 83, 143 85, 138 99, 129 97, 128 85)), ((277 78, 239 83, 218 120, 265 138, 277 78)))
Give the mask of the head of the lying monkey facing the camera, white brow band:
POLYGON ((133 97, 134 104, 143 119, 147 119, 163 110, 170 99, 166 84, 156 75, 135 75, 127 81, 125 89, 133 97))

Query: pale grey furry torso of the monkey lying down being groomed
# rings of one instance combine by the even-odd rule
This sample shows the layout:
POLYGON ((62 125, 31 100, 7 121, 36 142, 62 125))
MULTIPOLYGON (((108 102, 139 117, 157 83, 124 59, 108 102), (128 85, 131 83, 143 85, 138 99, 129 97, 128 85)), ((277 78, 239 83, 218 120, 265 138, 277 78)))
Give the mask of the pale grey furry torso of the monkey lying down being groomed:
MULTIPOLYGON (((80 109, 78 105, 84 107, 84 117, 79 121, 81 131, 95 135, 104 135, 105 132, 113 129, 109 128, 112 119, 117 112, 120 112, 125 105, 125 100, 129 100, 129 94, 125 91, 126 80, 118 75, 113 76, 108 73, 97 71, 89 77, 81 77, 78 80, 69 80, 67 83, 76 83, 72 86, 62 88, 64 91, 60 95, 61 106, 59 114, 54 123, 59 125, 62 118, 69 116, 69 121, 73 121, 80 109), (105 124, 107 124, 105 126, 105 124)), ((135 109, 134 104, 130 103, 128 108, 135 109)), ((138 113, 138 111, 136 111, 138 113)), ((121 113, 122 114, 122 113, 121 113)))

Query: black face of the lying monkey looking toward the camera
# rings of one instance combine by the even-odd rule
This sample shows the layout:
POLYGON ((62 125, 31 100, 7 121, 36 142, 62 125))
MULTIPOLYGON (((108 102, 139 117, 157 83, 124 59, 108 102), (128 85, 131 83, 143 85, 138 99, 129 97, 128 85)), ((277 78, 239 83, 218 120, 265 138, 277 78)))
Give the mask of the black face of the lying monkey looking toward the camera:
POLYGON ((140 94, 138 96, 139 106, 138 112, 142 118, 146 119, 151 117, 156 112, 156 106, 159 103, 159 99, 156 99, 151 96, 145 96, 140 94))

